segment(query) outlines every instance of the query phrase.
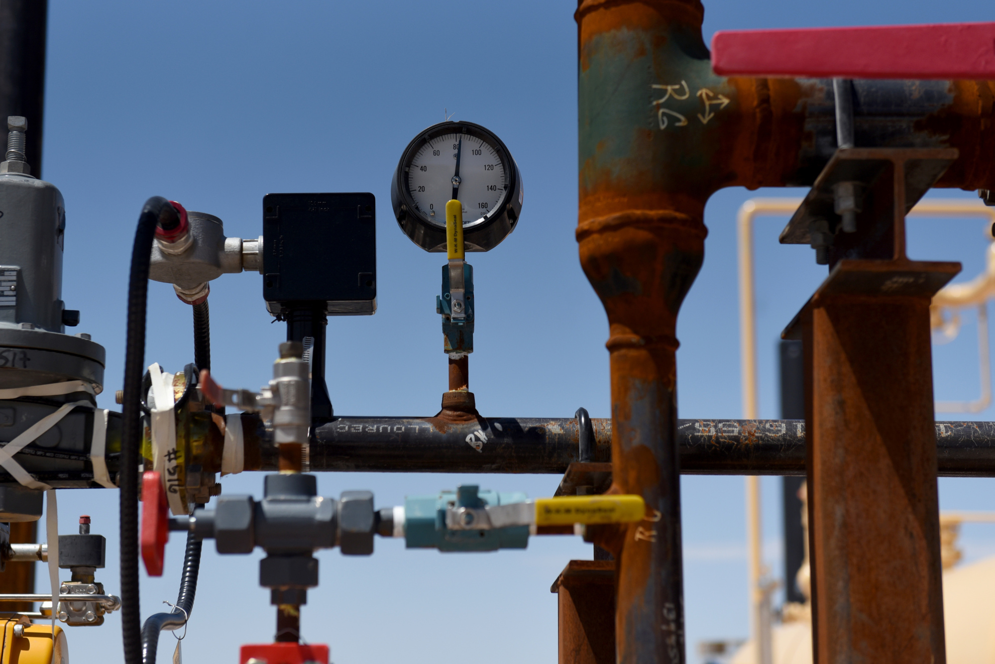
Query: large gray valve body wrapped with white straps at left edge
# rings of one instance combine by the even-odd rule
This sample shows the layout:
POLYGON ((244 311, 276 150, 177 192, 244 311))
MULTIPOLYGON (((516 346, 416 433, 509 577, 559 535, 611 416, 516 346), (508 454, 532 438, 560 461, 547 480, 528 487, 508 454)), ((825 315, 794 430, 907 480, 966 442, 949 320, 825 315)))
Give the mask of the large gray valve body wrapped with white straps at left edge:
MULTIPOLYGON (((25 118, 9 117, 8 129, 7 160, 0 162, 0 389, 83 380, 100 392, 103 346, 90 340, 89 334, 65 333, 67 324, 79 323, 79 312, 67 311, 62 301, 66 230, 62 193, 54 184, 30 174, 24 154, 25 118)), ((14 440, 60 403, 81 400, 94 401, 83 390, 41 399, 0 401, 0 444, 14 440)), ((67 470, 66 464, 82 469, 82 461, 58 459, 52 454, 47 458, 41 452, 85 453, 87 432, 92 428, 93 415, 77 409, 31 442, 16 460, 29 473, 52 475, 67 470)), ((51 484, 89 486, 89 482, 51 484)), ((4 472, 0 479, 0 520, 39 518, 40 494, 25 492, 29 490, 4 472)))

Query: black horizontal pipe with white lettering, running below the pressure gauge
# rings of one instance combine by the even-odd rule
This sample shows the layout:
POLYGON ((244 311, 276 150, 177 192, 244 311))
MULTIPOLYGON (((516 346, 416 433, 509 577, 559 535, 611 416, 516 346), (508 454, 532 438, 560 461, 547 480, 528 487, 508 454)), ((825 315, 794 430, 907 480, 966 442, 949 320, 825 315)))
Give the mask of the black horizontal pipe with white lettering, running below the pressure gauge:
MULTIPOLYGON (((611 461, 611 420, 591 423, 590 460, 611 461)), ((310 470, 562 474, 578 440, 575 418, 339 417, 314 429, 310 470)), ((685 475, 805 474, 802 420, 679 420, 678 441, 685 475)), ((261 447, 262 470, 276 470, 261 447)), ((941 477, 995 477, 995 422, 937 422, 936 451, 941 477)))

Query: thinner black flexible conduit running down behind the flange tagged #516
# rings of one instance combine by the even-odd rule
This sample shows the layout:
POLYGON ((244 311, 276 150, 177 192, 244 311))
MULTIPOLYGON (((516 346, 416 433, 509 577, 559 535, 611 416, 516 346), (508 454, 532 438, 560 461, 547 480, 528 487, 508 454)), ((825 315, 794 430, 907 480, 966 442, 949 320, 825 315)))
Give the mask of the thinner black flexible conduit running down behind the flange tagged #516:
MULTIPOLYGON (((207 301, 193 306, 193 350, 198 369, 211 368, 211 325, 207 301)), ((198 505, 197 507, 204 507, 198 505)), ((155 613, 141 626, 141 657, 144 664, 155 664, 159 647, 159 634, 164 629, 178 629, 186 624, 193 612, 193 599, 197 594, 197 574, 200 572, 200 551, 203 543, 187 534, 187 547, 183 553, 183 574, 176 604, 169 612, 155 613)))

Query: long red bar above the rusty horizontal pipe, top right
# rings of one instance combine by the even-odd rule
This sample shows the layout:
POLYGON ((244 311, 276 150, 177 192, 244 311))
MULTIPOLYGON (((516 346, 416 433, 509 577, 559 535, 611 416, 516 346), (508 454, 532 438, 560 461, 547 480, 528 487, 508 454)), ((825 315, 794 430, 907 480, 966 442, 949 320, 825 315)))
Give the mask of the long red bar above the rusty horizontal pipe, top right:
POLYGON ((732 30, 711 40, 721 76, 995 79, 995 23, 732 30))

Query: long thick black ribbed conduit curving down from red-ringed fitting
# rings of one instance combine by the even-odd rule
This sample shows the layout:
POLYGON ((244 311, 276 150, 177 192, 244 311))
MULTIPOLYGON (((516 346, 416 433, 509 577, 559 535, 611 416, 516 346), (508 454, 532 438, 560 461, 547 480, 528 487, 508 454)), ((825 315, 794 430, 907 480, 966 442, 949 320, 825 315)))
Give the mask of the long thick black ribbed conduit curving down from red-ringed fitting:
POLYGON ((145 315, 148 266, 156 226, 172 230, 180 216, 168 200, 153 196, 138 217, 128 275, 127 338, 121 405, 120 572, 121 642, 125 664, 141 664, 141 613, 138 602, 138 453, 141 444, 141 376, 145 364, 145 315))

